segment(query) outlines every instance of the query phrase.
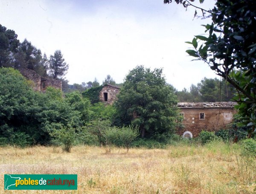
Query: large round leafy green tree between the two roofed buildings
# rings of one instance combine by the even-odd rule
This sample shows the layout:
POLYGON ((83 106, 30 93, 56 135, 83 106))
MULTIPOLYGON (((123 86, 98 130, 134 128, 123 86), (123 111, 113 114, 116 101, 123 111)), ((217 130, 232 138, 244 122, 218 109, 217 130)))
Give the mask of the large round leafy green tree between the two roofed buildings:
POLYGON ((166 84, 163 69, 132 69, 115 107, 116 125, 137 125, 142 137, 172 133, 179 117, 177 97, 173 87, 166 84))

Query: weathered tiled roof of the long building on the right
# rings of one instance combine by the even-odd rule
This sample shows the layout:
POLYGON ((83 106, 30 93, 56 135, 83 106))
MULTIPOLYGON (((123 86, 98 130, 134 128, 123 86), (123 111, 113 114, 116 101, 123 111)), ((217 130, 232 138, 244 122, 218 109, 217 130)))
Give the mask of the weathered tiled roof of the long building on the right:
POLYGON ((234 108, 236 102, 178 102, 180 108, 234 108))

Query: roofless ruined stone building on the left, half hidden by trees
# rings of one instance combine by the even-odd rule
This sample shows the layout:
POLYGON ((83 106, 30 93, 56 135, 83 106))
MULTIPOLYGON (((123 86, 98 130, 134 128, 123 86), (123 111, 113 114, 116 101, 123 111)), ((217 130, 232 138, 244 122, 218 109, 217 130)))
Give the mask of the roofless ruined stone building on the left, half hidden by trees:
POLYGON ((44 92, 48 86, 62 89, 62 81, 60 80, 44 78, 32 69, 19 69, 19 71, 25 78, 34 82, 35 91, 44 92))

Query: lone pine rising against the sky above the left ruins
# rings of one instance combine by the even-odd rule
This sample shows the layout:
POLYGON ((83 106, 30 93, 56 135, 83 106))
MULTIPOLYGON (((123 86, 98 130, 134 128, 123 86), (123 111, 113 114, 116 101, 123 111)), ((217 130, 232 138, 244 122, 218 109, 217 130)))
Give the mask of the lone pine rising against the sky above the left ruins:
POLYGON ((65 62, 61 50, 56 50, 54 55, 50 55, 49 74, 52 79, 64 80, 69 65, 65 62))

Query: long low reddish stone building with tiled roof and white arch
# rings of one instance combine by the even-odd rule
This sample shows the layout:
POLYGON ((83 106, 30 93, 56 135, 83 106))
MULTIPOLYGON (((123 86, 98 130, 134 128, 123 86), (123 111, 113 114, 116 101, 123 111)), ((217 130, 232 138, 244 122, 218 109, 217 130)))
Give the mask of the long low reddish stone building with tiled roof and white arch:
POLYGON ((183 129, 178 130, 183 137, 196 137, 202 130, 216 131, 225 129, 233 121, 236 102, 180 102, 183 129))

